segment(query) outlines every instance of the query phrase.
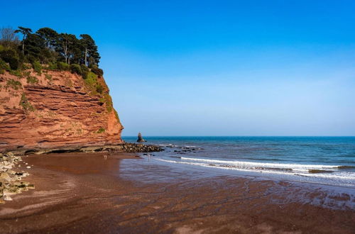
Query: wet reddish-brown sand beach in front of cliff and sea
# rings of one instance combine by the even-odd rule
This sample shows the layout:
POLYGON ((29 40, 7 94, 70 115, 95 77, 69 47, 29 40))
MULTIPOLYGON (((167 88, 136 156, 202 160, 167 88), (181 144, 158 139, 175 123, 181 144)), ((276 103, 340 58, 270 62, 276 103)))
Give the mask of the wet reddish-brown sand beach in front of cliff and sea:
POLYGON ((346 194, 103 155, 23 157, 35 189, 0 206, 0 233, 355 233, 346 194))

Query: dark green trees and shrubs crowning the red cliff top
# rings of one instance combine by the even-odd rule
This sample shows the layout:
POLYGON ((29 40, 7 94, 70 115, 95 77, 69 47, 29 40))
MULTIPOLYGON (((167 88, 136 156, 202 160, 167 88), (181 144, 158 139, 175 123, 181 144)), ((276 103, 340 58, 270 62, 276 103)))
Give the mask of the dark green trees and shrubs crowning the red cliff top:
MULTIPOLYGON (((12 70, 24 69, 23 64, 29 62, 38 74, 43 69, 40 64, 48 64, 44 69, 68 70, 81 74, 84 79, 89 75, 87 66, 100 77, 104 73, 98 67, 100 56, 90 35, 81 34, 78 39, 73 34, 57 33, 52 28, 40 28, 33 33, 31 28, 24 27, 18 27, 17 30, 3 28, 0 30, 1 35, 0 58, 9 63, 12 70), (16 33, 23 35, 21 42, 16 33)), ((4 72, 4 68, 0 72, 4 72)))

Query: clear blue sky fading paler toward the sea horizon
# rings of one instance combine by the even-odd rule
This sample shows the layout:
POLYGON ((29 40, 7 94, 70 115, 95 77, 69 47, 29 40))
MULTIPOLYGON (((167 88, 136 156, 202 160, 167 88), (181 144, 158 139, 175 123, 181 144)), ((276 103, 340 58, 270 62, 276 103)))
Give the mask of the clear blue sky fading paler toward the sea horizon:
POLYGON ((123 135, 355 135, 355 1, 2 1, 92 35, 123 135))

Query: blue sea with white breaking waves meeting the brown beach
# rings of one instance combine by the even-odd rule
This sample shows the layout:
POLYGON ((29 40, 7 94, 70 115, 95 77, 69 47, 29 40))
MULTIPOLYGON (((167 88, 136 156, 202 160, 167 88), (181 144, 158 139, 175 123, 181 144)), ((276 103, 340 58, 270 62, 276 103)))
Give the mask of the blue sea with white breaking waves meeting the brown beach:
MULTIPOLYGON (((157 163, 355 187, 355 137, 146 137, 157 163)), ((125 137, 136 142, 136 137, 125 137)))

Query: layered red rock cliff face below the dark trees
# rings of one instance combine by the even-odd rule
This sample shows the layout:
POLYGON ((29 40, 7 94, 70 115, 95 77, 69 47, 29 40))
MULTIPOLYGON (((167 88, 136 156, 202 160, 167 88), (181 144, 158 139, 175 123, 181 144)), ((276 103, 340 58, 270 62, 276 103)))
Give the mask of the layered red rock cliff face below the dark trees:
POLYGON ((0 152, 123 143, 103 77, 28 69, 0 74, 0 152))

